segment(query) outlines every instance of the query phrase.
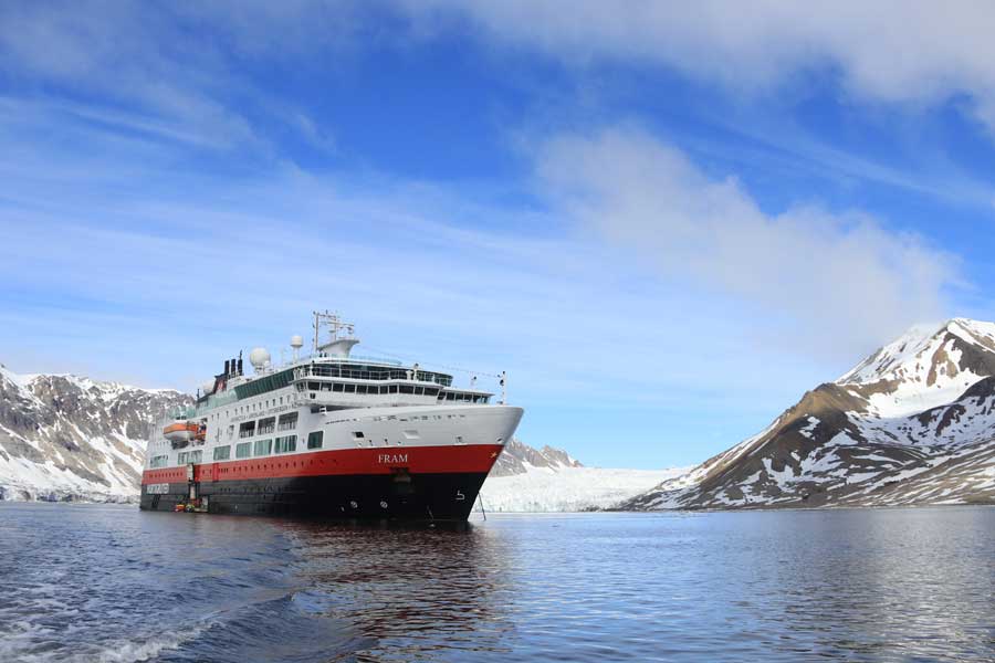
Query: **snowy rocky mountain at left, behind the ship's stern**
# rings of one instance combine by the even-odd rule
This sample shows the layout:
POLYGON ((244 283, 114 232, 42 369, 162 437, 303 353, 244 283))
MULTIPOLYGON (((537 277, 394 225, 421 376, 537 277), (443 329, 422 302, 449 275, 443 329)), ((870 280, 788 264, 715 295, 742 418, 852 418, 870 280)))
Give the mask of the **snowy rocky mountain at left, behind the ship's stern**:
POLYGON ((0 499, 135 498, 149 421, 191 400, 0 366, 0 499))

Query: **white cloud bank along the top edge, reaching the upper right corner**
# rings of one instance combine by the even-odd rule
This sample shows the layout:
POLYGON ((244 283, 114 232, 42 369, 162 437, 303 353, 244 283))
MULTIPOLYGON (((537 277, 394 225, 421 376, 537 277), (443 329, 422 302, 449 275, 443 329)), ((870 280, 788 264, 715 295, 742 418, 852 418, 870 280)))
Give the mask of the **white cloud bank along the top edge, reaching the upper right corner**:
POLYGON ((674 67, 746 93, 832 70, 855 95, 933 104, 967 95, 995 129, 995 4, 862 2, 401 2, 422 31, 468 19, 498 42, 577 65, 674 67))

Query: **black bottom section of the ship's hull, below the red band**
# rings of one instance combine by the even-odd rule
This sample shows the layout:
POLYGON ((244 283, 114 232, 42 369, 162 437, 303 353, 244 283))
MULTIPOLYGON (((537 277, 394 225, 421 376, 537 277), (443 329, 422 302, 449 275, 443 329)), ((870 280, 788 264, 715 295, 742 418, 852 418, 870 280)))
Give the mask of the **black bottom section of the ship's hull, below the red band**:
POLYGON ((485 473, 326 475, 171 483, 166 494, 142 486, 143 511, 172 512, 195 496, 210 514, 327 519, 465 520, 485 473))

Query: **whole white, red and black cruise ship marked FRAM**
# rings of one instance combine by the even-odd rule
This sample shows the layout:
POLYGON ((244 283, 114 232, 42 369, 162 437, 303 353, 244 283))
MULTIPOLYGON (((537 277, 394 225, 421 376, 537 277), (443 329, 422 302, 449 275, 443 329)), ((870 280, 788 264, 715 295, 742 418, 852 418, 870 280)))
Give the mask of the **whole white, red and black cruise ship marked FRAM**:
POLYGON ((314 314, 312 352, 241 354, 193 406, 153 427, 140 508, 336 519, 465 520, 522 419, 452 375, 353 354, 354 326, 314 314))

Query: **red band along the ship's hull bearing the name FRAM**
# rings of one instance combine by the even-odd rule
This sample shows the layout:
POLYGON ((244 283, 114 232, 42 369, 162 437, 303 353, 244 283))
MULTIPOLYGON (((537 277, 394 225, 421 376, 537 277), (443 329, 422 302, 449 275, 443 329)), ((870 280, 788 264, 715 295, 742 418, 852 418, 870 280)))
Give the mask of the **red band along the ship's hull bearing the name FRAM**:
MULTIPOLYGON (((484 473, 498 461, 500 444, 460 446, 380 446, 341 449, 193 466, 195 482, 242 481, 342 474, 390 474, 405 467, 410 474, 484 473)), ((186 483, 187 467, 146 470, 142 485, 186 483)))

